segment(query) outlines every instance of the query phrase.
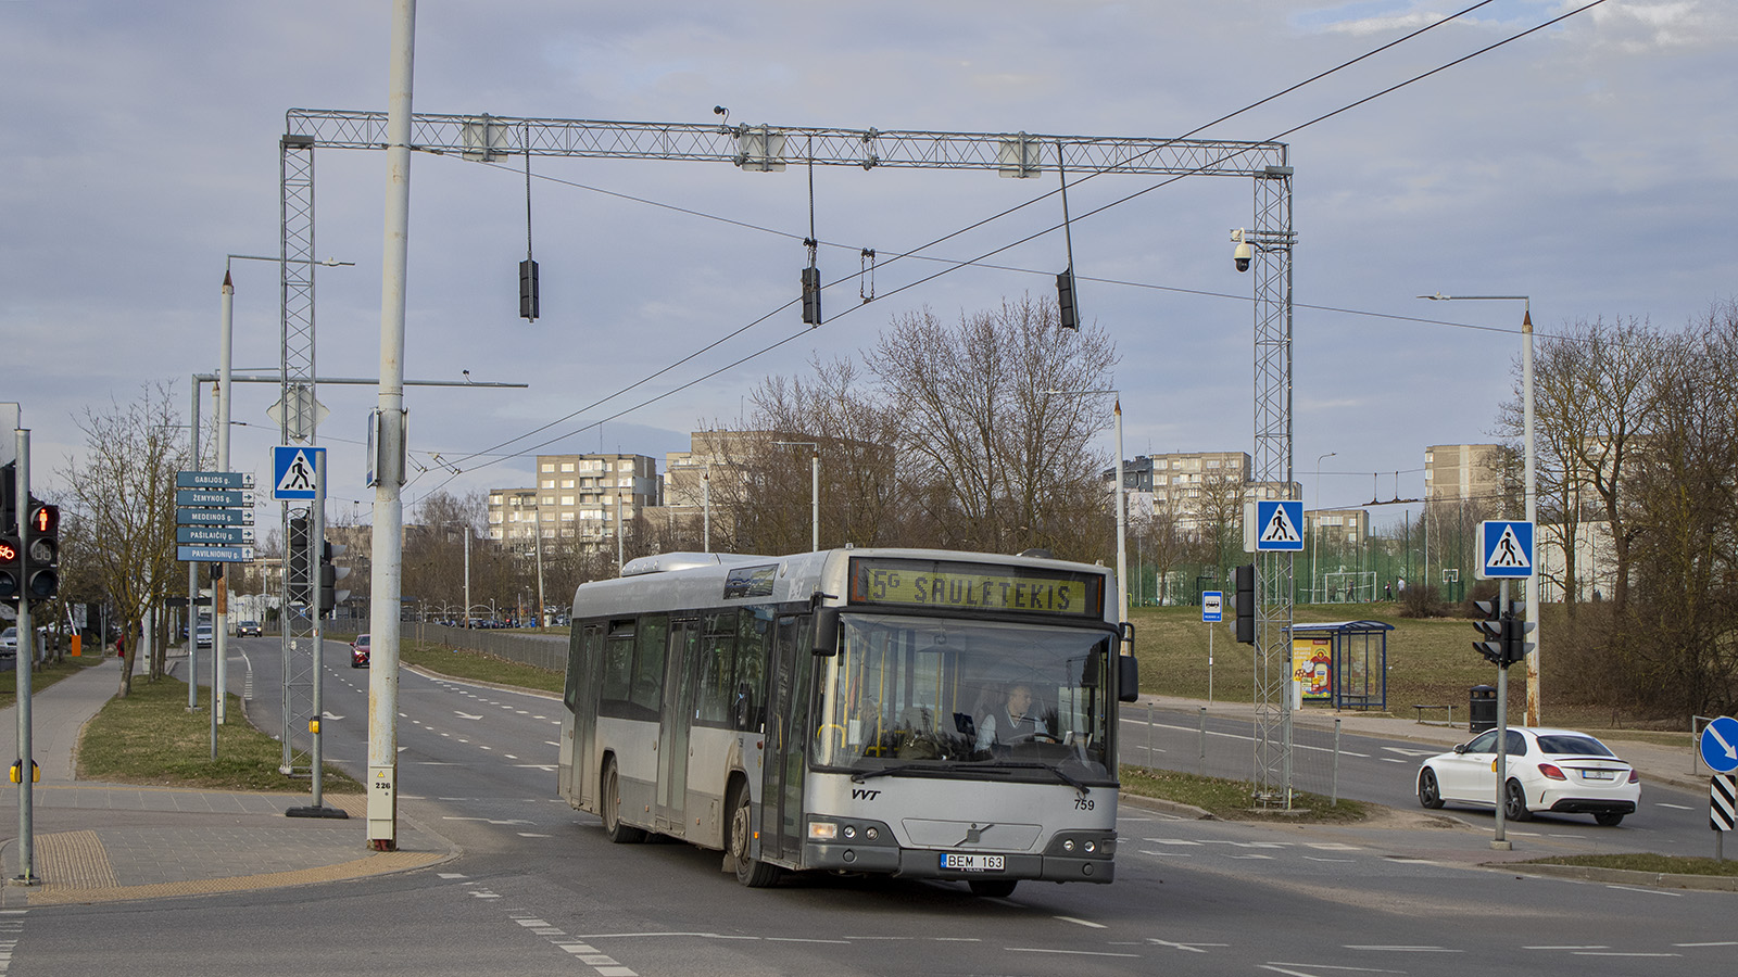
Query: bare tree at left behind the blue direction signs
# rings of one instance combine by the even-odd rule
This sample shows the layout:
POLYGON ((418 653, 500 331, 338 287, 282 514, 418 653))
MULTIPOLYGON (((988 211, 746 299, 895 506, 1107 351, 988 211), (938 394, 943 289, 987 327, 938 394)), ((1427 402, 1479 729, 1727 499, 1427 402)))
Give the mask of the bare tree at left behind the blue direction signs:
POLYGON ((186 568, 176 562, 176 473, 193 466, 172 393, 174 384, 146 386, 134 403, 111 403, 109 414, 85 409, 78 421, 85 455, 68 457, 61 471, 68 501, 92 542, 80 548, 82 572, 120 614, 129 652, 120 695, 132 692, 146 610, 186 582, 186 568))

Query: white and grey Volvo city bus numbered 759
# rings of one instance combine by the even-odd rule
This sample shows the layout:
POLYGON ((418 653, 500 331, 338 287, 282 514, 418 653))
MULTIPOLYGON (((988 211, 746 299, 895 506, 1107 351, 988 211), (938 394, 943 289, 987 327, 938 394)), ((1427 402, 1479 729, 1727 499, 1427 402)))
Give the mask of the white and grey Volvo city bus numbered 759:
POLYGON ((1107 883, 1137 694, 1112 593, 1104 567, 935 549, 629 562, 574 595, 558 789, 751 887, 1107 883))

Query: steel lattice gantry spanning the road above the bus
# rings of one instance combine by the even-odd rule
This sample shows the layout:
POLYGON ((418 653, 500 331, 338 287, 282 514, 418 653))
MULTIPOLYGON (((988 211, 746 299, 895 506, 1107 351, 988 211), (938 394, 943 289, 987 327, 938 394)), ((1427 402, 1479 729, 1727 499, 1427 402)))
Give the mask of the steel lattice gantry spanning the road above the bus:
MULTIPOLYGON (((280 146, 283 169, 283 242, 287 257, 313 259, 313 150, 386 150, 384 111, 290 110, 280 146), (306 156, 292 165, 290 156, 306 156), (297 179, 306 174, 306 189, 297 179)), ((598 122, 494 115, 414 113, 410 143, 422 153, 488 162, 499 156, 575 156, 732 163, 773 172, 787 163, 860 167, 864 170, 994 170, 1038 177, 1055 163, 1079 174, 1220 176, 1255 181, 1255 469, 1257 482, 1291 485, 1291 167, 1284 143, 1227 139, 1097 137, 1029 132, 926 132, 895 129, 824 129, 685 122, 598 122)), ((313 264, 306 282, 290 282, 285 263, 285 395, 313 384, 313 264), (295 356, 292 356, 295 349, 295 356), (306 349, 306 367, 301 353, 306 349), (294 358, 294 363, 292 363, 294 358), (294 370, 292 370, 294 367, 294 370)), ((289 516, 285 515, 285 523, 289 516)), ((1291 556, 1262 555, 1255 652, 1255 782, 1264 798, 1276 777, 1290 794, 1291 737, 1286 681, 1293 615, 1291 556)), ((396 601, 400 595, 374 595, 396 601)), ((285 669, 289 676, 289 668, 285 669)), ((289 681, 289 678, 287 678, 289 681)), ((285 690, 289 706, 290 692, 285 690)), ((290 708, 285 716, 290 716, 290 708)), ((287 720, 289 721, 289 720, 287 720)), ((289 735, 285 735, 289 742, 289 735)), ((289 746, 285 748, 289 749, 289 746)))

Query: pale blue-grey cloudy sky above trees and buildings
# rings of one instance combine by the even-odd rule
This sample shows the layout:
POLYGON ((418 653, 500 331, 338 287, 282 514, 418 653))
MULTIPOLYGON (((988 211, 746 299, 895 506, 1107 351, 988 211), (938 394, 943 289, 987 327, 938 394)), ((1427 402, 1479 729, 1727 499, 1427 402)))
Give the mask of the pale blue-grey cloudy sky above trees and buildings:
MULTIPOLYGON (((1491 440, 1514 382, 1519 304, 1415 296, 1531 296, 1550 334, 1601 316, 1681 329, 1738 294, 1729 0, 1608 0, 1298 129, 1583 3, 1479 5, 1197 134, 1290 132, 1295 466, 1312 508, 1416 495, 1425 445, 1491 440)), ((713 106, 726 106, 732 123, 1166 137, 1470 5, 424 2, 414 108, 714 123, 713 106)), ((216 370, 226 256, 278 254, 285 110, 384 110, 389 21, 386 0, 0 0, 0 402, 23 405, 38 485, 52 492, 76 464, 87 409, 104 414, 169 382, 186 405, 188 377, 216 370)), ((316 369, 374 377, 386 156, 316 158, 315 250, 355 263, 318 271, 316 369)), ((834 280, 860 269, 862 249, 911 250, 1053 183, 820 167, 812 202, 801 167, 535 158, 532 176, 544 315, 527 323, 516 315, 523 158, 412 158, 407 376, 469 370, 530 386, 412 388, 410 506, 436 488, 528 485, 537 450, 662 462, 688 431, 737 417, 766 376, 852 356, 918 308, 958 318, 1050 294, 1065 264, 1060 235, 1045 235, 996 256, 998 268, 888 296, 940 268, 893 264, 876 276, 885 297, 864 304, 846 282, 827 292, 827 325, 693 382, 801 330, 794 306, 775 309, 798 294, 810 209, 834 280)), ((1071 210, 1152 183, 1090 181, 1071 189, 1071 210)), ((1251 450, 1253 282, 1234 271, 1229 242, 1251 223, 1251 198, 1248 181, 1184 179, 1074 224, 1083 315, 1121 353, 1130 457, 1251 450)), ((926 254, 975 257, 1058 219, 1050 200, 926 254)), ((276 367, 276 269, 236 261, 233 275, 235 367, 276 367)), ((266 384, 235 395, 233 468, 262 480, 275 398, 266 384)), ((320 400, 332 412, 320 429, 330 515, 367 520, 374 389, 327 386, 320 400)), ((1378 525, 1389 513, 1376 511, 1378 525)))

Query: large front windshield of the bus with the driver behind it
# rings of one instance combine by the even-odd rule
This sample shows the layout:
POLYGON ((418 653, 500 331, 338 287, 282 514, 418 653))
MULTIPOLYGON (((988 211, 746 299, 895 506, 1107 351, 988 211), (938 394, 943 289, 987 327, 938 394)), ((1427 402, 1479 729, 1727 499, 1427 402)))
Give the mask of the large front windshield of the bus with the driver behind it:
POLYGON ((1107 777, 1109 648, 1081 628, 843 614, 815 760, 1107 777))

